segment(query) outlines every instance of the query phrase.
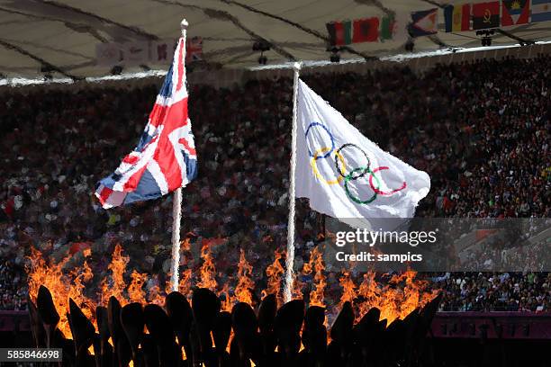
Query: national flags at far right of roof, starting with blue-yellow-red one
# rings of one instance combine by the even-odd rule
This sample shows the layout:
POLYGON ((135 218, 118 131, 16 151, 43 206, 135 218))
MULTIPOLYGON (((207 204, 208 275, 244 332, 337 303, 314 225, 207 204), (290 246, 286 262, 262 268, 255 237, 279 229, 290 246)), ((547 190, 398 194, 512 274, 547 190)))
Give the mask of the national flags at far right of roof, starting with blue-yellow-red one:
POLYGON ((551 21, 551 0, 501 0, 450 4, 444 8, 446 31, 476 31, 551 21))

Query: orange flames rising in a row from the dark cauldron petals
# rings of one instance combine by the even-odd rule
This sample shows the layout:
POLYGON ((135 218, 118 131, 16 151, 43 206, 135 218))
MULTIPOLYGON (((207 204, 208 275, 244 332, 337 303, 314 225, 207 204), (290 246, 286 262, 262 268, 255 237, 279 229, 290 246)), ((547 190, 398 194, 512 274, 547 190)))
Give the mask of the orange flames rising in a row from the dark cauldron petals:
MULTIPOLYGON (((230 282, 221 284, 216 279, 216 267, 210 245, 208 242, 203 244, 201 249, 203 264, 194 285, 217 293, 222 299, 223 310, 230 311, 237 302, 247 302, 254 306, 257 300, 256 281, 252 279, 253 266, 248 263, 245 252, 243 250, 240 252, 235 276, 230 277, 230 282)), ((189 249, 189 242, 183 243, 183 246, 186 246, 185 250, 189 249)), ((71 255, 59 262, 53 262, 45 260, 39 251, 32 249, 29 257, 31 261, 27 271, 31 299, 36 301, 41 285, 50 290, 61 318, 59 329, 65 336, 71 335, 67 318, 69 298, 77 303, 86 318, 89 318, 94 325, 95 308, 106 306, 111 296, 116 297, 122 306, 131 302, 156 303, 164 306, 164 298, 170 291, 169 277, 166 283, 161 284, 158 276, 151 278, 149 274, 135 270, 130 273, 127 269, 129 256, 123 254, 122 246, 115 246, 108 272, 106 276, 102 274, 101 280, 94 280, 94 273, 88 264, 90 251, 83 255, 85 255, 83 264, 71 266, 69 266, 72 261, 71 255), (99 285, 95 285, 97 281, 99 285), (149 290, 146 290, 147 284, 149 284, 149 290), (90 291, 94 289, 99 291, 90 291)), ((267 282, 266 288, 259 292, 261 299, 268 294, 275 294, 278 303, 283 302, 281 287, 284 258, 285 252, 276 250, 274 262, 266 267, 267 282)), ((350 301, 354 306, 357 319, 362 318, 369 309, 376 307, 381 309, 380 318, 386 318, 390 324, 394 319, 405 318, 414 309, 425 306, 437 294, 437 291, 429 290, 427 282, 415 279, 416 273, 413 271, 393 275, 387 282, 377 282, 376 273, 365 273, 363 280, 358 283, 354 281, 351 273, 343 271, 339 277, 340 296, 329 294, 335 292, 326 290, 328 281, 324 271, 321 251, 315 247, 309 261, 303 264, 302 271, 295 274, 293 298, 304 298, 311 306, 326 308, 331 305, 340 308, 344 302, 350 301), (312 282, 303 282, 301 280, 303 277, 312 278, 312 282), (311 283, 310 287, 307 287, 308 283, 311 283)), ((192 270, 183 271, 180 279, 179 291, 186 295, 193 285, 192 270)))

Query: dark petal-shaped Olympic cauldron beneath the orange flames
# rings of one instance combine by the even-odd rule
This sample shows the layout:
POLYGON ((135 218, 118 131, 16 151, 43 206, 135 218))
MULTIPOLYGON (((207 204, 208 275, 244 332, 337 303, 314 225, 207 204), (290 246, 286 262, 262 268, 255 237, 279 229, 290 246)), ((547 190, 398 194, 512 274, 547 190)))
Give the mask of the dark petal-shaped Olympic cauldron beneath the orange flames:
POLYGON ((398 366, 420 365, 426 336, 440 296, 390 325, 370 309, 355 324, 345 302, 328 330, 325 309, 292 300, 277 308, 267 295, 255 311, 239 302, 221 311, 221 300, 204 288, 191 304, 169 293, 164 309, 156 304, 124 307, 111 297, 97 307, 98 331, 73 300, 68 323, 72 339, 58 328, 59 314, 50 291, 41 286, 29 300, 33 342, 63 349, 63 366, 398 366))

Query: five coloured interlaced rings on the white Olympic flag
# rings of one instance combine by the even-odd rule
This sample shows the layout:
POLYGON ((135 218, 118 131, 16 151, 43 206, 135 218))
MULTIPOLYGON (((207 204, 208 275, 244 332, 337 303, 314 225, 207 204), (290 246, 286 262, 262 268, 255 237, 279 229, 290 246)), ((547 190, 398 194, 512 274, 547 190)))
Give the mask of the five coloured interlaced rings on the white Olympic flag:
POLYGON ((333 137, 333 134, 331 134, 329 128, 327 126, 325 126, 324 124, 322 124, 321 122, 312 122, 310 125, 308 125, 308 128, 306 129, 306 132, 304 134, 304 139, 306 139, 306 146, 307 147, 308 147, 308 133, 310 132, 311 128, 316 127, 316 126, 319 126, 319 127, 321 127, 321 129, 325 130, 328 133, 328 135, 330 136, 330 139, 331 139, 331 147, 319 148, 316 151, 314 151, 313 154, 312 154, 312 151, 310 150, 310 148, 307 148, 309 156, 312 157, 312 161, 310 163, 310 166, 312 166, 312 172, 320 181, 322 181, 324 183, 327 183, 327 184, 339 184, 343 181, 343 178, 344 178, 345 192, 347 193, 348 198, 351 201, 356 202, 357 204, 369 204, 369 203, 375 201, 375 199, 377 198, 378 195, 390 196, 393 193, 400 192, 400 191, 402 191, 406 188, 407 184, 404 181, 402 183, 402 186, 398 189, 393 189, 393 190, 388 191, 388 192, 382 191, 381 190, 381 180, 379 180, 379 178, 375 175, 375 173, 377 173, 379 171, 384 171, 384 170, 387 170, 387 169, 390 169, 390 168, 388 166, 379 166, 379 167, 376 167, 372 171, 370 169, 371 160, 367 156, 366 151, 364 149, 358 147, 356 144, 345 143, 345 144, 341 145, 335 151, 335 138, 333 137), (341 151, 344 148, 349 148, 349 147, 357 148, 360 152, 362 152, 364 157, 366 157, 367 164, 366 164, 366 166, 360 166, 360 167, 354 168, 347 175, 345 175, 346 174, 345 170, 347 168, 347 165, 346 165, 345 158, 344 158, 343 154, 341 153, 341 151), (337 176, 337 178, 335 180, 328 180, 328 179, 325 179, 321 176, 321 173, 318 170, 318 165, 317 165, 316 161, 318 159, 321 159, 321 158, 330 157, 330 155, 331 155, 331 153, 333 153, 333 151, 335 151, 335 167, 336 167, 337 172, 339 173, 339 175, 337 176), (340 162, 340 165, 339 165, 339 162, 340 162), (369 199, 364 200, 364 201, 362 201, 361 199, 354 196, 350 192, 350 189, 348 187, 348 183, 350 183, 350 181, 356 181, 357 179, 362 178, 362 177, 366 177, 366 180, 369 183, 369 187, 371 187, 371 190, 373 190, 373 192, 374 192, 374 194, 369 199), (375 187, 375 184, 373 183, 374 177, 375 177, 376 187, 375 187))

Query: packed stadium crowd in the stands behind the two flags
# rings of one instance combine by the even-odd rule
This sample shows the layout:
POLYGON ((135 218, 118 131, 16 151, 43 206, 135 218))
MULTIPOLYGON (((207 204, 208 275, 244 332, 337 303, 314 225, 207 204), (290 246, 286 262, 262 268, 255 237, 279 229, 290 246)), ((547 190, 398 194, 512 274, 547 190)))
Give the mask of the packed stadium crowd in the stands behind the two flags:
MULTIPOLYGON (((304 80, 369 139, 429 173, 431 190, 418 216, 550 217, 551 58, 304 80)), ((254 275, 261 277, 274 249, 285 246, 291 83, 190 86, 199 175, 185 188, 182 232, 194 244, 226 238, 223 255, 216 255, 221 282, 234 272, 237 247, 248 248, 254 275)), ((95 183, 135 146, 157 89, 4 92, 0 309, 24 308, 30 246, 46 255, 92 246, 90 263, 101 273, 104 254, 121 243, 130 267, 167 273, 170 195, 109 211, 93 195, 95 183)), ((304 201, 298 206, 300 268, 323 218, 304 201)), ((551 309, 547 273, 451 273, 435 283, 446 293, 443 309, 551 309)))

